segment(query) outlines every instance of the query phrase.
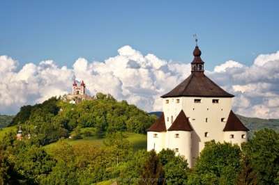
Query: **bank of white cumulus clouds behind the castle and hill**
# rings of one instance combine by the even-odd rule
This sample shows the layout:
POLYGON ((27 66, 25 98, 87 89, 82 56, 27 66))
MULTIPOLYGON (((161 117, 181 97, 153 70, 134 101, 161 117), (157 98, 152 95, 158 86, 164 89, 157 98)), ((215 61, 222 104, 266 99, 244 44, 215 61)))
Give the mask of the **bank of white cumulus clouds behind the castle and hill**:
MULTIPOLYGON (((105 61, 78 58, 70 68, 42 61, 18 69, 13 58, 0 56, 0 113, 16 113, 24 104, 71 92, 73 79, 84 80, 91 95, 110 93, 145 111, 160 111, 160 95, 189 74, 190 63, 165 61, 153 54, 144 56, 128 45, 105 61)), ((279 118, 279 51, 257 56, 251 66, 226 61, 212 72, 206 71, 206 75, 236 95, 233 101, 236 113, 279 118)))

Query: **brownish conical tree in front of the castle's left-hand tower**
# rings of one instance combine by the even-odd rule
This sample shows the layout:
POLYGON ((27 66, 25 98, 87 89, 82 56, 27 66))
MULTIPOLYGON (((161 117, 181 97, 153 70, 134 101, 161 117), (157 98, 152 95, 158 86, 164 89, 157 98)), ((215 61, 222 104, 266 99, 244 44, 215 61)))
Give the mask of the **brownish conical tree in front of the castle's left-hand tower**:
POLYGON ((149 157, 144 163, 139 184, 165 184, 162 163, 154 150, 149 152, 149 157))

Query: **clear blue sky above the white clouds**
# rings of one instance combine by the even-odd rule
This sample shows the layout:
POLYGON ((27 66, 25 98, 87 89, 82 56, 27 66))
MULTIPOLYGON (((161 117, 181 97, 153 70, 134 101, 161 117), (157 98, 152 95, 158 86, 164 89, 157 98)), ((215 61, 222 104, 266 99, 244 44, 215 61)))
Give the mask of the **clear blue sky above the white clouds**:
POLYGON ((279 1, 0 1, 0 56, 24 63, 103 61, 130 45, 189 62, 197 33, 206 68, 251 65, 279 49, 279 1))

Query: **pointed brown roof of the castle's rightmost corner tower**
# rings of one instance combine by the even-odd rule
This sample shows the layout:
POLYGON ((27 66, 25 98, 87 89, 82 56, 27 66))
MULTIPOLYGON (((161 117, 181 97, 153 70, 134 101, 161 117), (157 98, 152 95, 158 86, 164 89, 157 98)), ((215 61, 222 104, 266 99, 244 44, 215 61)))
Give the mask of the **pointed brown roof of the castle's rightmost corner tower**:
POLYGON ((233 111, 229 113, 227 123, 223 131, 249 131, 244 124, 237 118, 233 111))

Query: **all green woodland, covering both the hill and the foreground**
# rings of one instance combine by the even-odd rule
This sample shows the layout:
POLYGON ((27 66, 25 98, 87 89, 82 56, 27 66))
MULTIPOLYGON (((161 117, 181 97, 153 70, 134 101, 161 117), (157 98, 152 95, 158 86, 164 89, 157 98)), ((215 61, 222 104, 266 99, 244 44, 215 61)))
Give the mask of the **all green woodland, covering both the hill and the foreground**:
POLYGON ((241 147, 211 140, 188 168, 173 150, 133 150, 126 132, 145 134, 155 119, 101 93, 76 105, 53 97, 23 106, 10 126, 21 126, 24 138, 11 130, 0 140, 0 184, 279 184, 278 131, 255 131, 241 147), (103 145, 68 144, 64 138, 80 138, 80 129, 103 145))

